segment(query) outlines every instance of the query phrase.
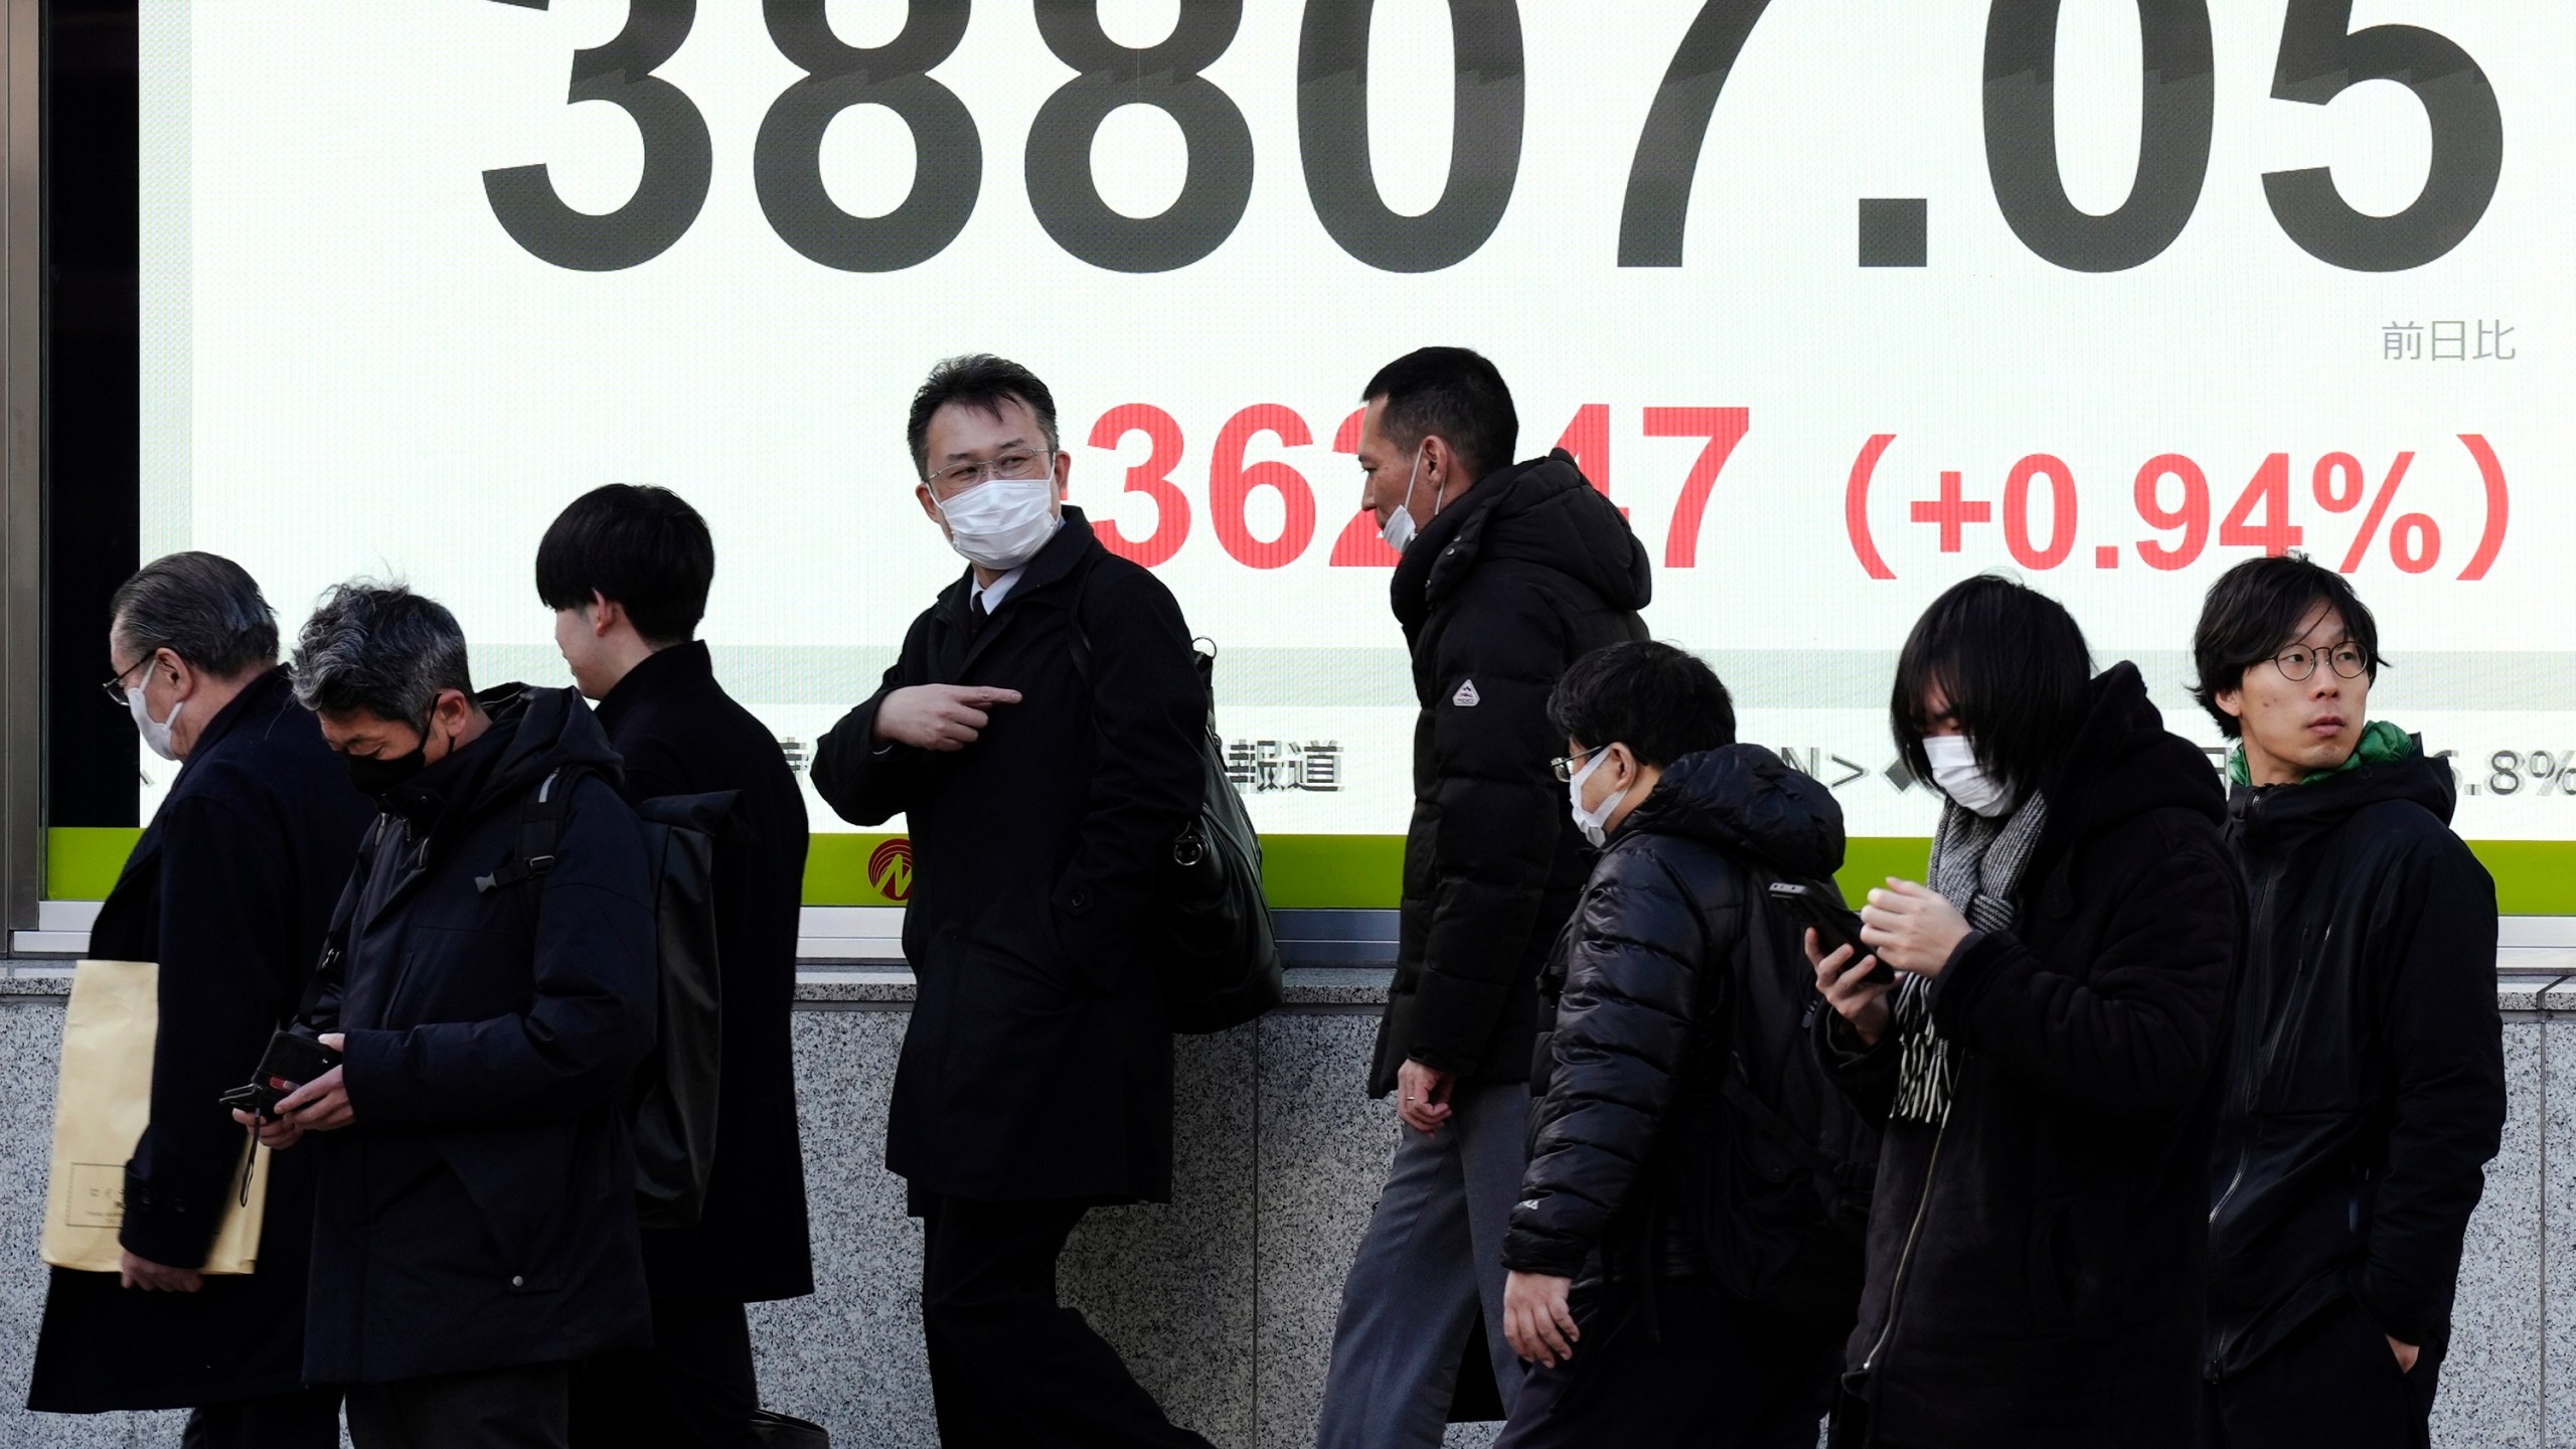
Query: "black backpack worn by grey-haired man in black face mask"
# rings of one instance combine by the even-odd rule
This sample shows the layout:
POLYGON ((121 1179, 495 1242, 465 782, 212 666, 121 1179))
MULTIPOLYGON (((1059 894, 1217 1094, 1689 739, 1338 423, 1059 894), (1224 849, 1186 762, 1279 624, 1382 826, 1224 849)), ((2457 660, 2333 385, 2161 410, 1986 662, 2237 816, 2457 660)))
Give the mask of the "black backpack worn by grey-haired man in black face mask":
MULTIPOLYGON (((580 766, 559 768, 520 810, 518 846, 477 890, 554 869, 554 843, 580 766)), ((724 1073, 724 982, 716 972, 716 843, 739 838, 742 792, 665 794, 636 804, 652 861, 654 1047, 636 1067, 626 1124, 636 1155, 636 1222, 688 1227, 706 1209, 716 1165, 716 1088, 724 1073)))

